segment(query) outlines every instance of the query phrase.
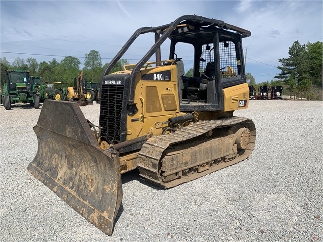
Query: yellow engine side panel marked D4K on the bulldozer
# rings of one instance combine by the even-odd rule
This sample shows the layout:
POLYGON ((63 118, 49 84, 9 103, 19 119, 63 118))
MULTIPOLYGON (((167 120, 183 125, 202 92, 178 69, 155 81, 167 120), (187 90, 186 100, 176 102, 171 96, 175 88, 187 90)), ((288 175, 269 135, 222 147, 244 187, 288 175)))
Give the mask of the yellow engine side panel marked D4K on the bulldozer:
MULTIPOLYGON (((179 113, 176 65, 142 68, 136 76, 134 93, 134 103, 137 105, 138 112, 127 118, 127 140, 146 134, 151 127, 155 127, 156 122, 165 122, 171 117, 183 115, 179 113), (167 70, 170 71, 169 80, 166 80, 167 78, 165 80, 142 79, 143 75, 153 74, 154 77, 154 73, 167 70), (166 97, 163 100, 163 95, 170 95, 173 98, 166 97), (170 99, 173 99, 171 102, 174 104, 166 104, 167 111, 164 108, 164 103, 170 99)), ((158 135, 166 126, 167 124, 164 124, 152 132, 154 135, 158 135)))

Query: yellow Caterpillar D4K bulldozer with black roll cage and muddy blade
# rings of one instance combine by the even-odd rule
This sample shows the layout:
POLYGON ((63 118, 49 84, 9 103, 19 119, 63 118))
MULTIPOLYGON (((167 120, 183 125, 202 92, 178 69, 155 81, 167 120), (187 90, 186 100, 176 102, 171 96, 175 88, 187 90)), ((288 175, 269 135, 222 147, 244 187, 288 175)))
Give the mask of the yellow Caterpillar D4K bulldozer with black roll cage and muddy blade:
POLYGON ((138 169, 167 189, 247 159, 255 124, 233 113, 248 108, 242 38, 250 35, 196 15, 136 30, 103 72, 99 126, 74 102, 45 100, 28 171, 111 235, 121 174, 138 169), (139 36, 154 40, 141 60, 110 73, 139 36))

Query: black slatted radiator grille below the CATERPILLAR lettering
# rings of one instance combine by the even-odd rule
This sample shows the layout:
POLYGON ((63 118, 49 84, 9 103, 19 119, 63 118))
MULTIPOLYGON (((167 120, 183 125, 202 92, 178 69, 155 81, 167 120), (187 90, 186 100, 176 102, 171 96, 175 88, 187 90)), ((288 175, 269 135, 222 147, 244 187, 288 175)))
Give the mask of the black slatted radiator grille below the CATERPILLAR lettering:
POLYGON ((100 119, 101 136, 111 143, 120 142, 123 85, 101 86, 100 119))

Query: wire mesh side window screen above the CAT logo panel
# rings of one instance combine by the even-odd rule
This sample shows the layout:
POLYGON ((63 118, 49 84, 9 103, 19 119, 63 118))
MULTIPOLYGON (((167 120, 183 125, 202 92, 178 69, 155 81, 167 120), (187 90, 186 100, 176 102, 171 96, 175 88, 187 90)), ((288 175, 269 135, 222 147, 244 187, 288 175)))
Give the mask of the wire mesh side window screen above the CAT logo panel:
POLYGON ((238 67, 235 44, 229 41, 220 42, 219 53, 221 77, 237 75, 238 67))

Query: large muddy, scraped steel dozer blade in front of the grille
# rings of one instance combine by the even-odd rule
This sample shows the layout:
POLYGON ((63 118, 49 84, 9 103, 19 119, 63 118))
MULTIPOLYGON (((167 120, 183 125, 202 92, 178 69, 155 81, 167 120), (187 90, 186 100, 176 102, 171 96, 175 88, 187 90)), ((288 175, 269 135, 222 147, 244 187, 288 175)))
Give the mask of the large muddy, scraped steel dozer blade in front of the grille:
POLYGON ((38 151, 28 171, 111 235, 123 197, 118 153, 99 147, 76 102, 45 100, 33 129, 38 151))

